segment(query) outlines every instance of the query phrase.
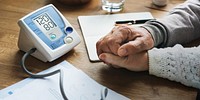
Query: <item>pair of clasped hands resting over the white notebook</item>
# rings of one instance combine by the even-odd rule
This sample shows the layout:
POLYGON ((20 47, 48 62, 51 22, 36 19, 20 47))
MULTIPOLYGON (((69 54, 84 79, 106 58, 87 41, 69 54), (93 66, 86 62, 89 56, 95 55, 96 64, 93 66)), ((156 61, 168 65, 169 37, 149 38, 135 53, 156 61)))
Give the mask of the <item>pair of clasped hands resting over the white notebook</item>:
POLYGON ((115 26, 96 44, 101 61, 131 71, 148 70, 147 50, 153 46, 153 38, 146 29, 129 25, 115 26))

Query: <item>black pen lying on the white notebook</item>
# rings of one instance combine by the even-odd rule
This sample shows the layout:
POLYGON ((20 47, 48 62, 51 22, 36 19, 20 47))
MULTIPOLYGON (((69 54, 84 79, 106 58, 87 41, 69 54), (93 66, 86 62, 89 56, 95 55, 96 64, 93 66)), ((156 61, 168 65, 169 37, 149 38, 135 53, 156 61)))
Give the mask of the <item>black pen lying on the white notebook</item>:
POLYGON ((149 20, 153 19, 140 19, 140 20, 124 20, 124 21, 116 21, 115 24, 143 24, 149 20))

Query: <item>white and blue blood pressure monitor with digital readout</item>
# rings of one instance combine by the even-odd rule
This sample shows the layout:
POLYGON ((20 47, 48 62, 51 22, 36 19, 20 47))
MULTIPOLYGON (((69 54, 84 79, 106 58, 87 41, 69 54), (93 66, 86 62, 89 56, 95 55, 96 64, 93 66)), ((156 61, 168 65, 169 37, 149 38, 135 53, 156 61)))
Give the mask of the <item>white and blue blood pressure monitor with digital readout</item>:
POLYGON ((32 55, 44 62, 59 58, 80 43, 78 33, 52 4, 24 16, 18 25, 19 49, 27 52, 36 48, 32 55))

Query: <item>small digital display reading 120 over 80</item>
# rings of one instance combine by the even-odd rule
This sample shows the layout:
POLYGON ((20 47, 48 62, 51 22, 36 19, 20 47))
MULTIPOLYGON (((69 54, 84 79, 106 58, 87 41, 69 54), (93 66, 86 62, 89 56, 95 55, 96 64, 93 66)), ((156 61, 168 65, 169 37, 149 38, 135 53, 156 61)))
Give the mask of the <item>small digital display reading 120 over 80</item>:
POLYGON ((43 13, 33 19, 33 22, 38 26, 38 28, 43 33, 48 33, 52 29, 56 28, 57 25, 51 19, 51 17, 47 13, 43 13))

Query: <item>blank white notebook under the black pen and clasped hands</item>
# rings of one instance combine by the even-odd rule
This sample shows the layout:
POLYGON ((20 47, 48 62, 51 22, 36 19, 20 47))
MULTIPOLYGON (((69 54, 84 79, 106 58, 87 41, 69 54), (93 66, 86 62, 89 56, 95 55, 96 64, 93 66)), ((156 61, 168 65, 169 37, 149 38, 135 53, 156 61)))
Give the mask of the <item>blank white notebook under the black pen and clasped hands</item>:
POLYGON ((116 21, 141 19, 153 19, 153 16, 150 12, 79 16, 78 20, 90 61, 99 61, 96 42, 111 31, 116 21))

